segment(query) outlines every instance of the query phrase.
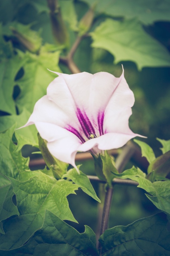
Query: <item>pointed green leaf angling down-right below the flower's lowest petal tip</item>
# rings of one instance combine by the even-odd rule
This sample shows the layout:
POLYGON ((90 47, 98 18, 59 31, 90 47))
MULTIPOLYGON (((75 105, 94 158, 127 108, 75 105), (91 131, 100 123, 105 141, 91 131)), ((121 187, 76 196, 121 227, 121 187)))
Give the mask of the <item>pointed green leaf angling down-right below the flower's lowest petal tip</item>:
POLYGON ((65 177, 71 179, 75 184, 79 185, 81 189, 87 195, 91 196, 94 200, 98 201, 99 203, 101 202, 100 199, 97 197, 96 192, 94 191, 92 184, 90 183, 90 180, 87 175, 85 175, 85 173, 80 171, 80 174, 78 174, 76 169, 73 168, 70 169, 65 175, 63 175, 63 178, 65 177))

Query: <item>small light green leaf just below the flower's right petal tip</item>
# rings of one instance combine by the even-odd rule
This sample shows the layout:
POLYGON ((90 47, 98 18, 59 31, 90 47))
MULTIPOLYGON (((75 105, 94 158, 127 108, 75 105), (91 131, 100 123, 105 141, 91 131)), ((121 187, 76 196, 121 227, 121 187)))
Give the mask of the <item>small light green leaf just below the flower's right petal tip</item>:
POLYGON ((146 157, 148 162, 152 163, 155 160, 155 154, 154 154, 152 148, 143 141, 136 140, 136 139, 133 141, 135 141, 140 146, 141 151, 142 151, 142 157, 146 157))

